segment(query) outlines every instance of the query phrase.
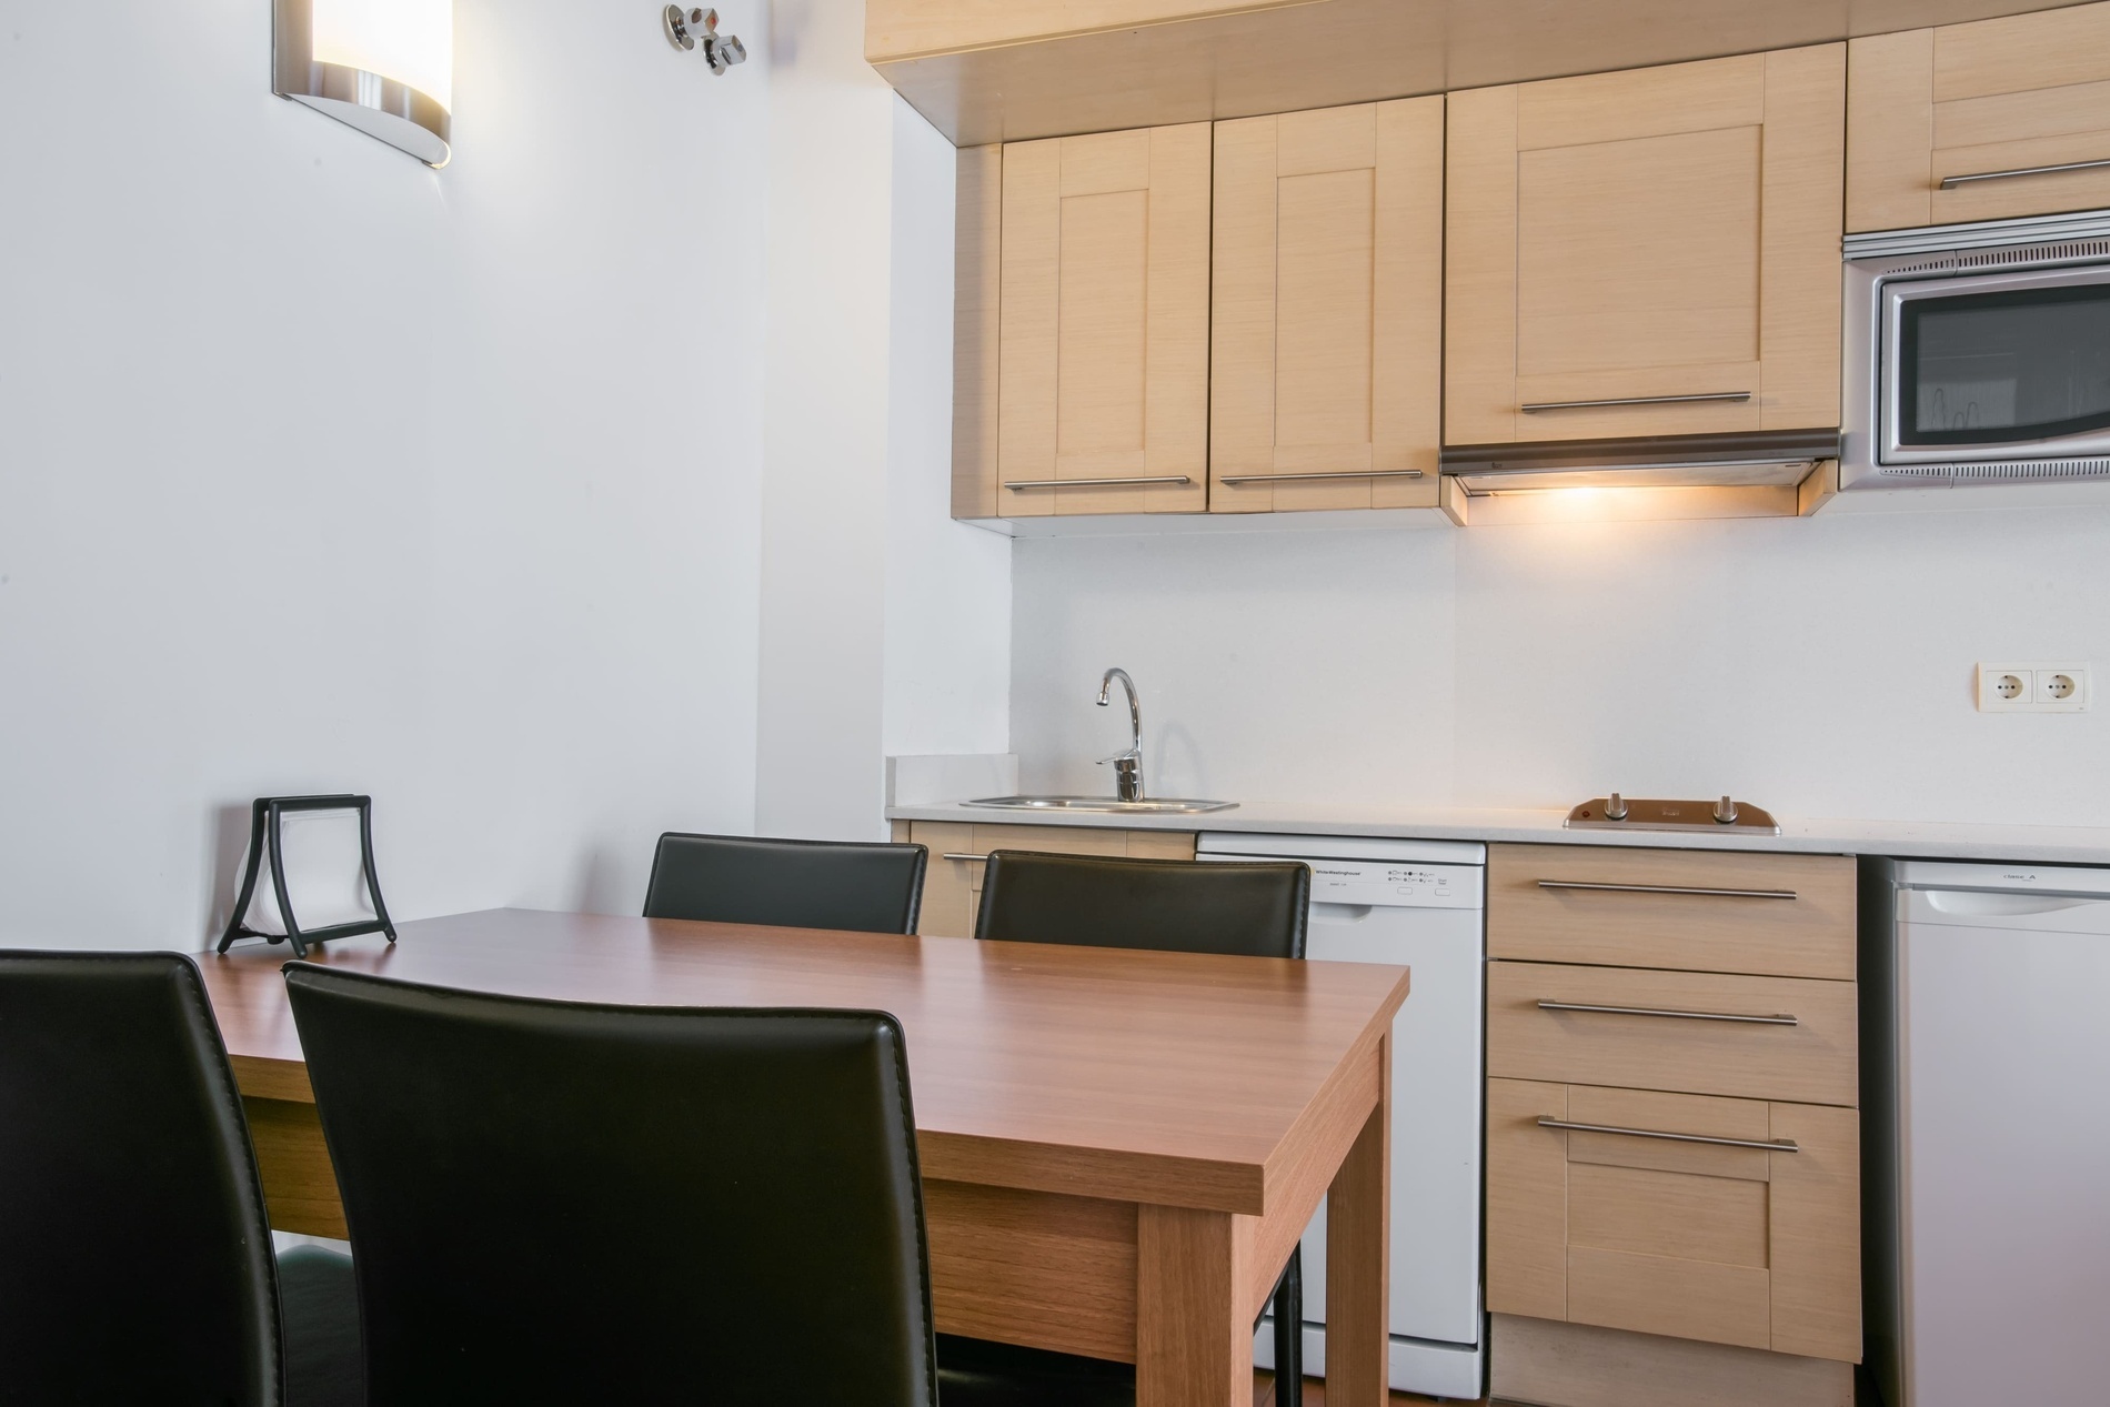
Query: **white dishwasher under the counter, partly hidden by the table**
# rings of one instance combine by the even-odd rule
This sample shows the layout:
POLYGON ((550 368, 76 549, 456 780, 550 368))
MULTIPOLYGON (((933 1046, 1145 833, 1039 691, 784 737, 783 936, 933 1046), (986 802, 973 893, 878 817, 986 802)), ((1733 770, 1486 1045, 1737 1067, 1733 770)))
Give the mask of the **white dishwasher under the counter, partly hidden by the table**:
MULTIPOLYGON (((1443 840, 1205 833, 1203 861, 1302 861, 1308 962, 1414 968, 1393 1021, 1390 1382, 1477 1399, 1488 848, 1443 840)), ((1272 1325, 1253 1342, 1274 1367, 1272 1325)), ((1304 1234, 1304 1371, 1325 1375, 1325 1204, 1304 1234)))

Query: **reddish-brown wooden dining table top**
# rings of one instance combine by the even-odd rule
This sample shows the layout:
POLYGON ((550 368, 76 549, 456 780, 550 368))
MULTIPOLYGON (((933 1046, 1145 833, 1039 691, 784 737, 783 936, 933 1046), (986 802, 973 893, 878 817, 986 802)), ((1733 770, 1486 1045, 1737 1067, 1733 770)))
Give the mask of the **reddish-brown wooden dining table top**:
MULTIPOLYGON (((1262 1215, 1407 998, 1407 968, 490 909, 312 949, 509 996, 888 1010, 924 1177, 1262 1215)), ((283 945, 205 953, 245 1095, 312 1101, 283 945)))

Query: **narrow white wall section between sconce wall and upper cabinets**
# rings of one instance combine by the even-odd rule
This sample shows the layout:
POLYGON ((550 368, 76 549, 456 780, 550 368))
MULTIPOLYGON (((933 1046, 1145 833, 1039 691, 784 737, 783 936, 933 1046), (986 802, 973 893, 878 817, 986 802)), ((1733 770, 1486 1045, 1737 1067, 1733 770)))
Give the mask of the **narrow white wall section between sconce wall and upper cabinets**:
POLYGON ((755 829, 884 833, 886 753, 1004 751, 1009 544, 950 521, 954 150, 774 6, 755 829))

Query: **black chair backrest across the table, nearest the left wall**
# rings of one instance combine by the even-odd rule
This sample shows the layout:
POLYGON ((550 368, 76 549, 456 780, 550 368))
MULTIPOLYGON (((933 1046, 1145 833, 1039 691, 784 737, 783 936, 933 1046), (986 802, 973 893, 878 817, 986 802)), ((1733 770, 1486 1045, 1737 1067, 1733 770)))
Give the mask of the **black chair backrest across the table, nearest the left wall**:
POLYGON ((916 932, 928 850, 840 840, 660 835, 646 918, 916 932))

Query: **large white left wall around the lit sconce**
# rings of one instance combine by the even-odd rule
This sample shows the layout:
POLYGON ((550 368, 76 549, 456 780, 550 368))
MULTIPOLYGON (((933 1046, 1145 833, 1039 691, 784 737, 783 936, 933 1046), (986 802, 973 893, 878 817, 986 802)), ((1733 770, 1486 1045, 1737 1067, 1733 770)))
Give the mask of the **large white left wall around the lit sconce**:
POLYGON ((264 0, 6 6, 0 943, 203 943, 266 793, 371 791, 405 918, 633 909, 658 829, 749 827, 724 11, 711 80, 650 6, 458 0, 433 173, 268 93, 264 0))

